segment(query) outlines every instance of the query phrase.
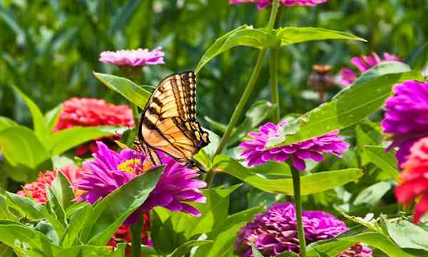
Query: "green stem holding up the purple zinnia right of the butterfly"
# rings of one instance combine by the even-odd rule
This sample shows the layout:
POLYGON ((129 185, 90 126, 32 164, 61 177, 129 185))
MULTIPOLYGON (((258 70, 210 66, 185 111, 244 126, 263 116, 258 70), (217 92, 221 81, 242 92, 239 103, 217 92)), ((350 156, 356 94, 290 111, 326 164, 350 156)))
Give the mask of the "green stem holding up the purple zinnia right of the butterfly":
POLYGON ((292 188, 294 189, 294 199, 296 208, 296 221, 297 221, 297 236, 300 243, 300 256, 306 257, 306 240, 305 230, 302 223, 302 198, 300 198, 300 171, 292 168, 292 188))

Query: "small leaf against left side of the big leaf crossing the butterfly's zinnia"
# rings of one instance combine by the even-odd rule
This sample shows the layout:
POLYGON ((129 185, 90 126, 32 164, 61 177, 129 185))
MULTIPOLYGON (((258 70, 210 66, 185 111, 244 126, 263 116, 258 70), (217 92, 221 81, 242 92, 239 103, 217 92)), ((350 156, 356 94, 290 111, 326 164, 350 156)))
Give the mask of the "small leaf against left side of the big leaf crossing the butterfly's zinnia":
POLYGON ((84 228, 85 223, 92 218, 92 206, 86 203, 79 206, 70 216, 68 227, 61 238, 61 246, 68 248, 73 246, 73 243, 78 238, 79 233, 84 228))

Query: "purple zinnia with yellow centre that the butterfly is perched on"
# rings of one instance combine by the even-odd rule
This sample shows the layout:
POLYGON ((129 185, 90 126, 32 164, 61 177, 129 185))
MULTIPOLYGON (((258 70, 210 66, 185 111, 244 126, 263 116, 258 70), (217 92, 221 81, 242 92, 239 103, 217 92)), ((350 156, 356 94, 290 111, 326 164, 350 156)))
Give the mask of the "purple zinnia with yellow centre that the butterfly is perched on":
MULTIPOLYGON (((128 148, 117 153, 100 141, 96 143, 98 152, 93 153, 95 159, 83 163, 83 168, 88 171, 83 172, 81 180, 74 185, 76 189, 83 191, 78 200, 91 204, 146 172, 143 153, 128 148)), ((183 211, 199 216, 196 208, 184 202, 205 203, 205 197, 199 188, 204 188, 206 183, 196 179, 199 176, 196 171, 186 168, 173 158, 163 156, 161 159, 165 169, 139 211, 150 211, 155 206, 163 206, 170 211, 183 211)), ((136 222, 136 217, 136 213, 133 213, 126 223, 129 225, 136 222)))

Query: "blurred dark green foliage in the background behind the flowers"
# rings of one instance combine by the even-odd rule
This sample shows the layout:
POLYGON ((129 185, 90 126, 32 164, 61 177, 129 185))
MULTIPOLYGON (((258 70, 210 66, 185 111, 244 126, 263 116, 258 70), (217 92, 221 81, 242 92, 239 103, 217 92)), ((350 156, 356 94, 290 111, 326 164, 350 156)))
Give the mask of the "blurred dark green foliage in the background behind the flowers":
MULTIPOLYGON (((0 1, 0 116, 31 124, 26 107, 11 90, 19 86, 43 111, 71 96, 124 103, 92 76, 120 74, 101 64, 101 51, 162 46, 165 65, 143 69, 143 83, 156 85, 171 73, 194 69, 213 41, 242 24, 265 26, 269 11, 227 0, 2 0, 0 1)), ((282 48, 282 114, 303 113, 317 99, 302 97, 313 64, 330 64, 334 74, 350 58, 388 51, 415 69, 427 63, 428 0, 329 0, 315 8, 282 10, 280 26, 320 26, 367 39, 322 41, 282 48)), ((200 74, 199 117, 226 123, 250 76, 257 51, 235 48, 200 74)), ((267 63, 267 58, 265 63, 267 63)), ((305 94, 303 94, 305 95, 305 94)), ((252 104, 270 99, 263 69, 252 104), (257 96, 257 97, 256 97, 257 96)), ((309 97, 310 98, 310 97, 309 97)))

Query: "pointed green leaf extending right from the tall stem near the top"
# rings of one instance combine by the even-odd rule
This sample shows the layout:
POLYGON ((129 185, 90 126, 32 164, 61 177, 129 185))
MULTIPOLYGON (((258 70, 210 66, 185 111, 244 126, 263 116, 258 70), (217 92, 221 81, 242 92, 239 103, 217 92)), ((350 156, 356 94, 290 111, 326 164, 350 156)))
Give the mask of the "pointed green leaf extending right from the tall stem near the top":
POLYGON ((366 41, 358 36, 342 31, 312 27, 286 27, 276 30, 276 35, 281 39, 281 46, 302 43, 314 40, 343 39, 366 41))

